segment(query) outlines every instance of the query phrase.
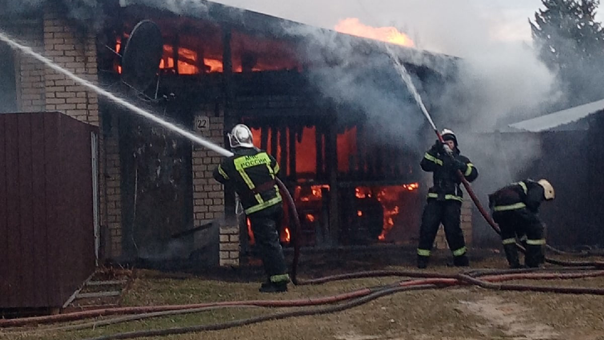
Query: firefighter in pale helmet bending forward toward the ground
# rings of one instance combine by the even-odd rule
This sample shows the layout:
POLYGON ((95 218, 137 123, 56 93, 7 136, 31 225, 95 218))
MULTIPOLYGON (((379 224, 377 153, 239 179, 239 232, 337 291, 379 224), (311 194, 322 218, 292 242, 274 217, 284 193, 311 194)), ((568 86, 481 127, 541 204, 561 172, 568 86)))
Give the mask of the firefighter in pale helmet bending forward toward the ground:
POLYGON ((526 249, 525 266, 539 267, 543 263, 544 227, 538 212, 542 201, 553 199, 554 188, 545 179, 522 180, 489 195, 491 214, 501 229, 503 249, 510 268, 521 267, 516 237, 522 240, 526 249))

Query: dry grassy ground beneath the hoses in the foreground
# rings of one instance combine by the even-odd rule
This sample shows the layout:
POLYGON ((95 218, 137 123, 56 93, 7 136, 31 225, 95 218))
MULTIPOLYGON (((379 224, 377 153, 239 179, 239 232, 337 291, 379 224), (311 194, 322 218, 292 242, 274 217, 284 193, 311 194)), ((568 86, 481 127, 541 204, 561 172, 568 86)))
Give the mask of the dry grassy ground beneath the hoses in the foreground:
MULTIPOLYGON (((304 264, 301 266, 300 278, 367 269, 416 270, 408 263, 396 264, 384 259, 379 266, 376 266, 375 261, 370 257, 347 261, 337 257, 331 259, 332 261, 324 260, 323 266, 304 264), (339 263, 341 266, 330 267, 334 263, 339 263), (309 270, 311 267, 316 270, 314 272, 309 270)), ((594 258, 594 260, 602 260, 602 258, 594 258)), ((460 271, 458 268, 446 266, 445 263, 446 258, 435 258, 428 271, 438 273, 460 271)), ((472 269, 477 268, 504 269, 506 264, 503 255, 493 254, 492 257, 472 261, 472 269)), ((397 283, 403 279, 362 278, 312 286, 292 285, 287 293, 262 294, 257 291, 259 281, 262 280, 262 275, 257 270, 167 273, 135 269, 129 289, 121 298, 121 305, 150 306, 251 299, 298 299, 330 296, 364 287, 397 283)), ((604 288, 604 276, 574 280, 522 280, 510 283, 604 288)), ((7 340, 88 339, 132 330, 213 324, 297 309, 299 308, 216 309, 77 331, 45 330, 48 327, 65 324, 40 325, 36 329, 0 329, 0 338, 7 340)), ((77 323, 81 322, 71 324, 77 323)), ((342 312, 146 339, 604 340, 604 296, 510 292, 475 286, 414 290, 383 296, 342 312)))

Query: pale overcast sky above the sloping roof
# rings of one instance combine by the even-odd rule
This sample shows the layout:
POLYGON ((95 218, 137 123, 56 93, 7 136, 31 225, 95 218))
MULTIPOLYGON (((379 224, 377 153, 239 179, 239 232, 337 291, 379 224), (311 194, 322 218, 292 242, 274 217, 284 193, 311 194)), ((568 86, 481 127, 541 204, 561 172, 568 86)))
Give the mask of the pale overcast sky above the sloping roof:
MULTIPOLYGON (((451 37, 530 44, 528 18, 540 0, 216 0, 226 5, 333 29, 345 18, 359 18, 373 27, 394 25, 419 47, 455 53, 451 37), (443 38, 446 37, 446 38, 443 38), (448 41, 443 41, 446 39, 448 41)), ((598 13, 602 21, 604 15, 598 13)), ((467 44, 460 38, 461 44, 467 44)), ((471 41, 472 39, 466 39, 471 41)))

